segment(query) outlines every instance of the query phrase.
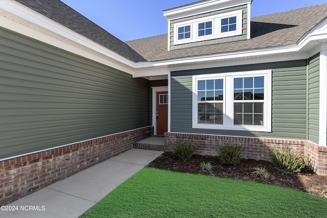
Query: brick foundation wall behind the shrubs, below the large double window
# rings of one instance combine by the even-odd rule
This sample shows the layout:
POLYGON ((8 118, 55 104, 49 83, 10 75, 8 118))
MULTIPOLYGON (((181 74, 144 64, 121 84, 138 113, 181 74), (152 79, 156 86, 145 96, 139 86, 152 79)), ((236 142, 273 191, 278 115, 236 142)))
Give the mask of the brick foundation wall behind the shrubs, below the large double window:
POLYGON ((242 145, 245 147, 242 153, 243 158, 266 161, 270 161, 268 146, 281 148, 283 144, 288 144, 293 152, 309 158, 317 175, 327 176, 327 147, 302 140, 165 133, 165 146, 162 151, 170 150, 172 145, 190 142, 191 140, 197 146, 196 154, 216 156, 216 147, 218 146, 225 144, 242 145))

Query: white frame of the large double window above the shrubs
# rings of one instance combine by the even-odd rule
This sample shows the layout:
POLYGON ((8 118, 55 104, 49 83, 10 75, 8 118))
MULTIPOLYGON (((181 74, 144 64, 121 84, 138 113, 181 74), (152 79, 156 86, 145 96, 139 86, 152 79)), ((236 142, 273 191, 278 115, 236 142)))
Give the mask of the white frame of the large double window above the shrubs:
POLYGON ((192 128, 271 132, 271 70, 196 75, 192 77, 192 128), (264 125, 234 125, 234 78, 264 76, 264 125), (223 124, 198 123, 198 80, 224 78, 223 124))

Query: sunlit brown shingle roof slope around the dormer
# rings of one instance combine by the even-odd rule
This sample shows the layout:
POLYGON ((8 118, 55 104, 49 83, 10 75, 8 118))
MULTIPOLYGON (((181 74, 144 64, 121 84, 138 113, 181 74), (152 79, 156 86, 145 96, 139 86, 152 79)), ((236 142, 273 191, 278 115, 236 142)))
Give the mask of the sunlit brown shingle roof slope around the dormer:
POLYGON ((127 41, 148 61, 287 46, 327 17, 327 4, 251 18, 251 39, 167 51, 168 35, 127 41))

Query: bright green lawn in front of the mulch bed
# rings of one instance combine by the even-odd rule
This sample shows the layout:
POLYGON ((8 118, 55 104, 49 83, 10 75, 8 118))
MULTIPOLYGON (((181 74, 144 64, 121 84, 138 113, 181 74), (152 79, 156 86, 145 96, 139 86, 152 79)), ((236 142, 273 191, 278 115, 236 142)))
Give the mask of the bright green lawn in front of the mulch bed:
POLYGON ((211 176, 144 168, 81 217, 326 217, 327 199, 211 176))

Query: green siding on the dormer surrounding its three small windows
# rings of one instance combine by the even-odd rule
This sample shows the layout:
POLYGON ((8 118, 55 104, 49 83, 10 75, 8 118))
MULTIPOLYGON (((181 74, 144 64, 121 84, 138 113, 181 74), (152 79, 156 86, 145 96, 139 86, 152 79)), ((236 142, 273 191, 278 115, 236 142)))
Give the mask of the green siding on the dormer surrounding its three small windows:
POLYGON ((214 12, 194 15, 194 16, 190 16, 190 17, 184 17, 184 18, 172 20, 170 24, 171 24, 170 25, 170 45, 171 45, 170 50, 185 49, 185 48, 191 48, 191 47, 197 47, 197 46, 206 46, 206 45, 213 45, 213 44, 218 44, 218 43, 245 40, 245 39, 247 39, 247 5, 241 5, 241 6, 227 8, 227 9, 218 10, 218 11, 214 11, 214 12), (243 32, 242 32, 242 35, 218 38, 218 39, 212 39, 212 40, 205 40, 205 41, 197 41, 197 42, 191 42, 191 43, 186 43, 186 44, 182 44, 182 45, 174 45, 174 24, 182 22, 182 21, 186 21, 186 20, 192 20, 192 19, 197 19, 197 18, 201 18, 201 17, 211 16, 211 15, 221 14, 221 13, 226 13, 226 12, 231 12, 231 11, 237 11, 237 10, 243 10, 243 20, 242 20, 243 32))

